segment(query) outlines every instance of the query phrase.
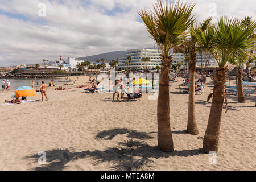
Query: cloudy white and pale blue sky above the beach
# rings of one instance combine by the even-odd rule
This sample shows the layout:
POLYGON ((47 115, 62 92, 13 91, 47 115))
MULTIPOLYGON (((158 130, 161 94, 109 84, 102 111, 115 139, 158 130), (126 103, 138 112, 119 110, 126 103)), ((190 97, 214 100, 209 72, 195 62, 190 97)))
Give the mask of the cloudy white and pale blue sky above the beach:
MULTIPOLYGON (((0 0, 0 67, 154 47, 138 11, 156 0, 0 0)), ((175 2, 175 1, 172 1, 175 2)), ((198 22, 256 18, 255 0, 193 0, 198 22)))

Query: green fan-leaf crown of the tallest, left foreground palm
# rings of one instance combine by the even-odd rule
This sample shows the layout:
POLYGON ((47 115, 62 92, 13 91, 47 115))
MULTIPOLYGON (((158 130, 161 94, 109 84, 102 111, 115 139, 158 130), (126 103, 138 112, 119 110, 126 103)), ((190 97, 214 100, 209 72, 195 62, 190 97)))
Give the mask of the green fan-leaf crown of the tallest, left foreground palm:
POLYGON ((180 5, 179 1, 175 5, 168 1, 164 4, 158 1, 154 5, 154 12, 139 11, 147 31, 162 50, 164 57, 168 56, 172 47, 182 43, 186 36, 185 31, 193 22, 191 14, 194 6, 183 3, 180 5))

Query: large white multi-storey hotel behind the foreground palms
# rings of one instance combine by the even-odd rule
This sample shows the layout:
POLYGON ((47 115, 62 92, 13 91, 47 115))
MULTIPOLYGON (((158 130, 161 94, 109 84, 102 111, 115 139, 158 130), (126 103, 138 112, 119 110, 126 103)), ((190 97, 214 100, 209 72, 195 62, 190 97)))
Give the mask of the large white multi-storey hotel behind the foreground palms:
MULTIPOLYGON (((160 59, 160 53, 161 51, 159 49, 132 49, 128 50, 125 57, 122 57, 121 60, 119 60, 117 69, 122 70, 124 68, 127 68, 126 61, 128 60, 128 57, 131 56, 131 61, 129 64, 129 69, 138 71, 144 69, 144 63, 142 62, 142 57, 149 57, 150 61, 147 63, 147 67, 149 69, 152 69, 153 67, 156 67, 157 65, 160 65, 161 59, 160 59)), ((183 53, 170 53, 170 55, 173 56, 172 64, 181 63, 182 67, 184 67, 184 54, 183 53)), ((203 53, 202 56, 200 53, 197 53, 197 67, 201 67, 201 63, 203 63, 203 67, 205 67, 205 64, 207 64, 207 60, 209 59, 208 53, 203 53)), ((188 68, 188 63, 187 68, 188 68)), ((146 67, 146 63, 145 63, 146 67)), ((210 57, 209 61, 209 67, 218 67, 217 61, 210 57)))

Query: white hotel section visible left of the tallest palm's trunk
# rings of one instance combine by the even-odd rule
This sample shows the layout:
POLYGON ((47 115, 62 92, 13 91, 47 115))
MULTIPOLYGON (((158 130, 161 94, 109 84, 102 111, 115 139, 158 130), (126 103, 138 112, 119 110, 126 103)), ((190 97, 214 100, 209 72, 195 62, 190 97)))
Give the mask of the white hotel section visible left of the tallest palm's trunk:
POLYGON ((155 68, 157 65, 160 65, 160 53, 159 49, 131 49, 126 51, 124 57, 118 61, 118 70, 123 70, 127 68, 126 62, 129 61, 128 68, 131 71, 142 71, 144 69, 144 63, 142 61, 143 57, 149 57, 150 61, 146 64, 148 69, 155 68), (128 60, 128 57, 131 56, 131 60, 128 60))

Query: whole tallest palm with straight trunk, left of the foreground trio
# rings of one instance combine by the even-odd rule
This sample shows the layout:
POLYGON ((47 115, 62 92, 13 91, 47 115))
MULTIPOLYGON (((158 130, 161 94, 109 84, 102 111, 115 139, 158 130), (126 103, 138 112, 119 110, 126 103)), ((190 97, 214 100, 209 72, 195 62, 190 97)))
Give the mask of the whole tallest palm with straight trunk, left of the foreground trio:
POLYGON ((174 151, 170 126, 169 70, 172 56, 169 51, 184 40, 185 31, 193 21, 191 13, 194 6, 186 3, 180 5, 179 1, 175 5, 168 1, 166 3, 158 1, 154 5, 154 11, 139 11, 151 38, 162 51, 157 109, 158 147, 165 152, 174 151))

